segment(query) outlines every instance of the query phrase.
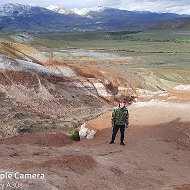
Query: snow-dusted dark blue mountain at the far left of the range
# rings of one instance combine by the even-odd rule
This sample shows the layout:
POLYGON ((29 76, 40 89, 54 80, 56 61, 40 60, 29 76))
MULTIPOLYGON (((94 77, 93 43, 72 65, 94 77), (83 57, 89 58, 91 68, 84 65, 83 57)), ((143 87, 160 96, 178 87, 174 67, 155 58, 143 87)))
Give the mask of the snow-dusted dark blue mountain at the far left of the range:
POLYGON ((59 33, 86 30, 81 23, 88 18, 76 14, 60 14, 43 7, 22 4, 0 5, 0 32, 59 33))

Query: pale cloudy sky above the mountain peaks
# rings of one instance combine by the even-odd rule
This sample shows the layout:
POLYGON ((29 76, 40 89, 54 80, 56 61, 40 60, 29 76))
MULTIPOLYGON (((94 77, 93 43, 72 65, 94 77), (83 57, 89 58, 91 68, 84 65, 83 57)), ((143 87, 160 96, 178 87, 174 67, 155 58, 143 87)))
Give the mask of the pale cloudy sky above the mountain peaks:
POLYGON ((43 7, 59 5, 69 9, 105 6, 126 10, 172 12, 190 15, 190 0, 1 0, 0 4, 11 2, 43 7))

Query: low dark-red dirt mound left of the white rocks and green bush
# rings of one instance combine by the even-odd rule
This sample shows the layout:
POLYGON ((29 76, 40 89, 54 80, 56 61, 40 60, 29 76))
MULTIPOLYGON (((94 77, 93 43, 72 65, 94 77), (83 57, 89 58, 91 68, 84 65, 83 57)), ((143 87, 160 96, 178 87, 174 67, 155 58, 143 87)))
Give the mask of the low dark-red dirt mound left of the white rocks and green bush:
POLYGON ((65 134, 23 134, 9 137, 0 141, 0 144, 29 144, 40 146, 57 146, 61 147, 71 144, 74 141, 69 139, 65 134))

